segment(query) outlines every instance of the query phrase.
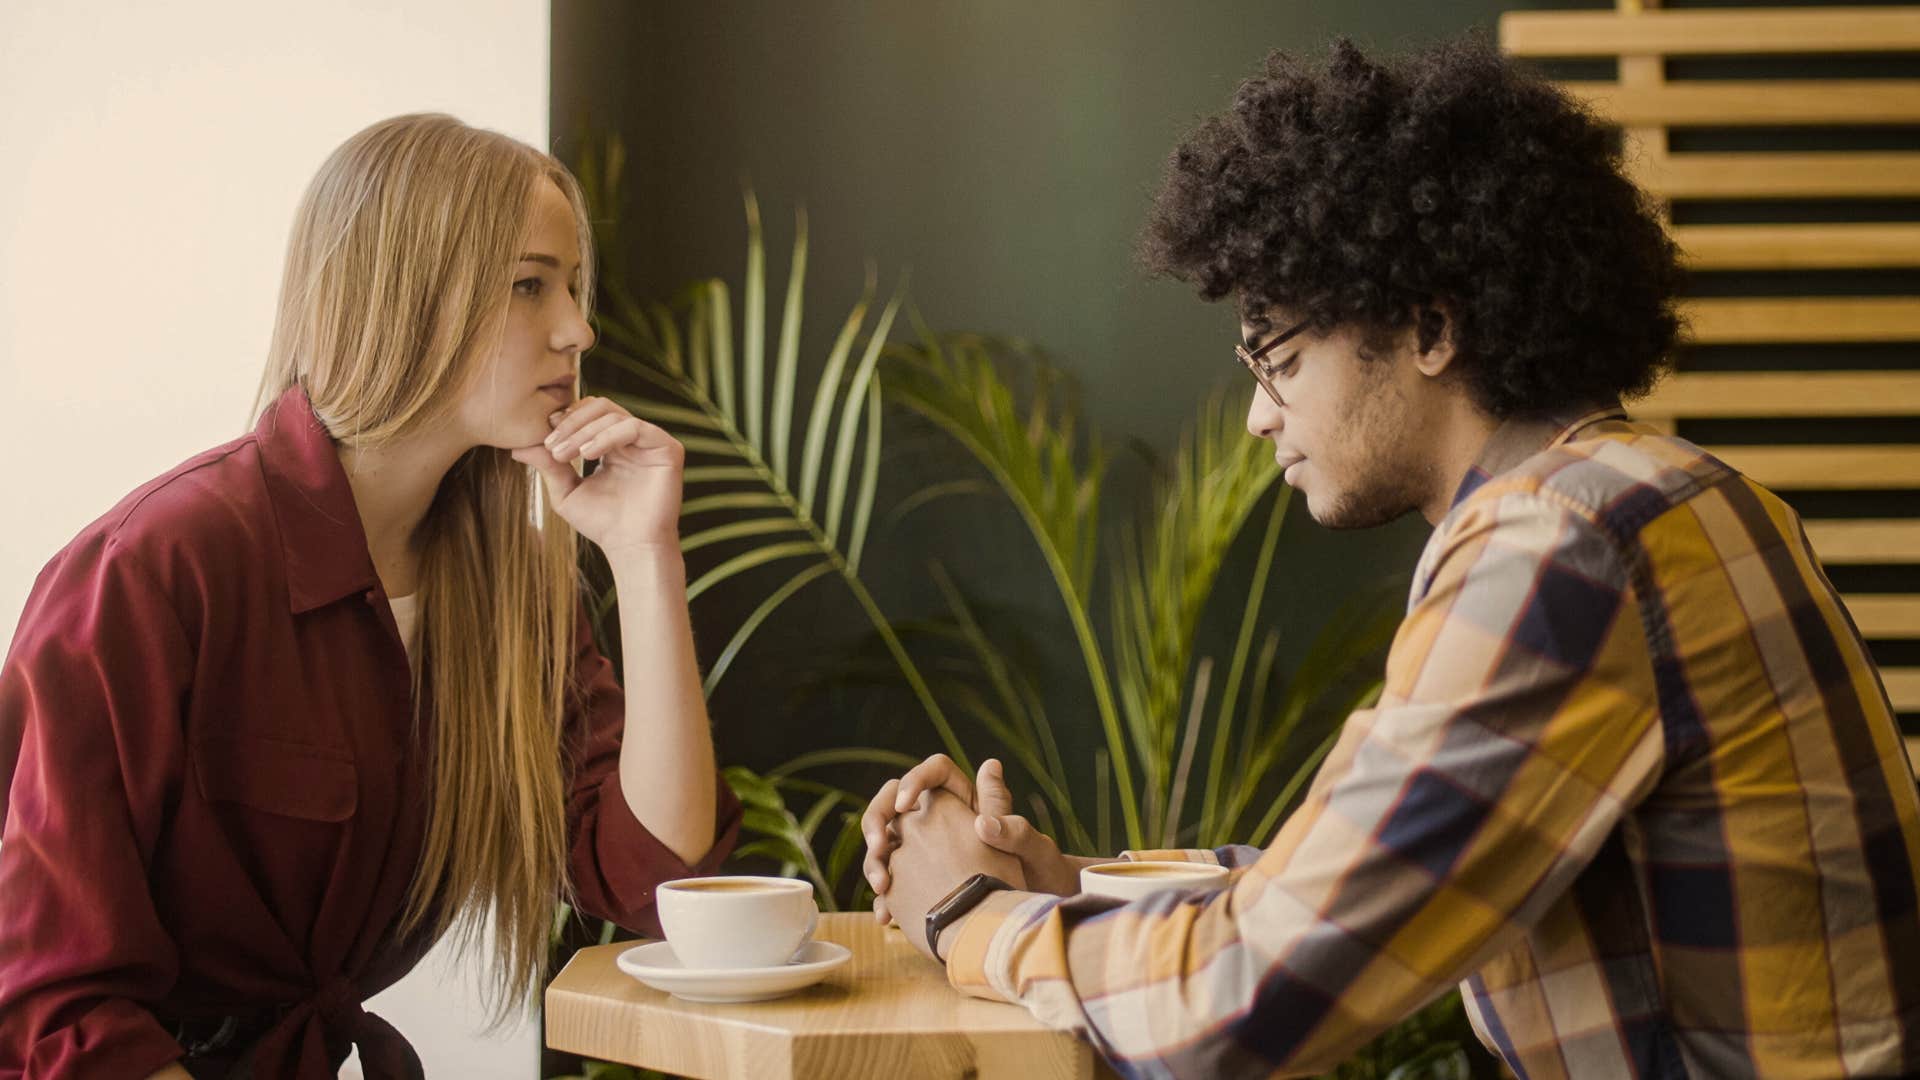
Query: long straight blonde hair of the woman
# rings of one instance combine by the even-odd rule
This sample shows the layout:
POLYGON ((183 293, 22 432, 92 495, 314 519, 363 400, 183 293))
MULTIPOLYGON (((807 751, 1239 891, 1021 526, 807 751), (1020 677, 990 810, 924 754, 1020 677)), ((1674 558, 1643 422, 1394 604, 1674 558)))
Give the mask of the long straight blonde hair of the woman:
MULTIPOLYGON (((593 248, 580 184, 551 156, 438 113, 346 140, 294 215, 257 409, 301 384, 344 446, 445 421, 505 327, 536 186, 574 208, 580 304, 593 248)), ((432 805, 401 930, 492 940, 495 1020, 532 1001, 566 880, 561 719, 574 659, 574 530, 538 477, 474 448, 420 527, 417 721, 432 805), (430 707, 428 707, 430 703, 430 707)))

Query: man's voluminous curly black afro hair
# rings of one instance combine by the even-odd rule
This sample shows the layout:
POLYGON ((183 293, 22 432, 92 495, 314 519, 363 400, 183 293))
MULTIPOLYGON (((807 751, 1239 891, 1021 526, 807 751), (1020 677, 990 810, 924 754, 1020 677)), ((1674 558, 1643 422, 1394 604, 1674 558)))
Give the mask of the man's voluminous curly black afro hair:
POLYGON ((1175 148, 1150 271, 1380 342, 1436 302, 1475 402, 1542 415, 1644 394, 1678 332, 1672 240, 1609 129, 1480 37, 1321 69, 1271 54, 1175 148))

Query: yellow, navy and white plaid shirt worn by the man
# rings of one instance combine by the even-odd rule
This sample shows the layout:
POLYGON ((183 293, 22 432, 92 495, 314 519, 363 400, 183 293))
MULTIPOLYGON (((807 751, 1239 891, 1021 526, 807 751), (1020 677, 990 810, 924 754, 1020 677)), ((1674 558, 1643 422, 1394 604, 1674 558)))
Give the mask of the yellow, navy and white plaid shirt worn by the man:
POLYGON ((1311 1074, 1461 982, 1523 1078, 1920 1072, 1920 794, 1764 488, 1619 411, 1509 423, 1386 690, 1217 892, 995 894, 954 986, 1129 1076, 1311 1074))

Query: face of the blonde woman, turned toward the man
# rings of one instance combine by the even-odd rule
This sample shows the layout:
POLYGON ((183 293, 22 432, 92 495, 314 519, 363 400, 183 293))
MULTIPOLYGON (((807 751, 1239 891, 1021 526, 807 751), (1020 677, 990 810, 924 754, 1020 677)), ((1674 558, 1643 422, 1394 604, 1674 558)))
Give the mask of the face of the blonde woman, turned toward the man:
POLYGON ((572 404, 580 354, 593 344, 578 294, 574 208, 553 181, 541 179, 499 352, 482 363, 461 400, 459 425, 474 444, 536 446, 551 430, 547 417, 572 404))

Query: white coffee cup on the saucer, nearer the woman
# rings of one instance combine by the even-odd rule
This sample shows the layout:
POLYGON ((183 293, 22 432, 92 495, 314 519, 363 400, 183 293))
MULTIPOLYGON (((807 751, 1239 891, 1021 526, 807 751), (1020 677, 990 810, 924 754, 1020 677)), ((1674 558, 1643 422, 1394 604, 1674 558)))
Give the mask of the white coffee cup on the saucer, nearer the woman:
POLYGON ((814 936, 814 886, 795 878, 680 878, 653 892, 685 969, 780 967, 814 936))

